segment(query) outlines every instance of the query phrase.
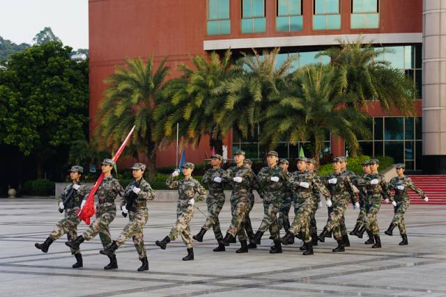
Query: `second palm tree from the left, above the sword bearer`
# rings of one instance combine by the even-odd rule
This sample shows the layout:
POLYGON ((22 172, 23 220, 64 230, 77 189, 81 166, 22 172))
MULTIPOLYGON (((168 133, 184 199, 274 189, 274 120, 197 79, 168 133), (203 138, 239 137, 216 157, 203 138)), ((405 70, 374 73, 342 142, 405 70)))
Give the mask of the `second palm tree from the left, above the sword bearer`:
POLYGON ((176 125, 186 142, 198 144, 201 136, 210 136, 210 147, 222 154, 225 134, 216 122, 215 109, 223 104, 224 97, 211 90, 233 76, 231 51, 220 57, 213 52, 209 58, 202 55, 190 58, 194 69, 178 66, 182 76, 172 79, 162 91, 164 102, 155 111, 156 136, 164 143, 173 141, 176 125))

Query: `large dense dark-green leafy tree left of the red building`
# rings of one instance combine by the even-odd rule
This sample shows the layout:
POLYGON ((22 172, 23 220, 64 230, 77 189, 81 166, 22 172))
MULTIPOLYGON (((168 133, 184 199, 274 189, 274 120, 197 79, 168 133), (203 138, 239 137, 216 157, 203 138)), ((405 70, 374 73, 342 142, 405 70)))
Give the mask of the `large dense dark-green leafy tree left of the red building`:
POLYGON ((38 178, 61 147, 86 138, 88 62, 71 61, 70 52, 47 42, 0 67, 0 143, 35 156, 38 178))

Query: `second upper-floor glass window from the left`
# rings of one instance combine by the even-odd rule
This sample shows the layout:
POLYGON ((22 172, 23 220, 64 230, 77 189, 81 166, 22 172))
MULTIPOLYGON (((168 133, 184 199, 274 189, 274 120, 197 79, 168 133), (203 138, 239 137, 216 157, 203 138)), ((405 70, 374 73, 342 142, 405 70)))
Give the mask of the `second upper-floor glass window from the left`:
POLYGON ((265 0, 243 0, 242 13, 242 33, 266 32, 265 0))

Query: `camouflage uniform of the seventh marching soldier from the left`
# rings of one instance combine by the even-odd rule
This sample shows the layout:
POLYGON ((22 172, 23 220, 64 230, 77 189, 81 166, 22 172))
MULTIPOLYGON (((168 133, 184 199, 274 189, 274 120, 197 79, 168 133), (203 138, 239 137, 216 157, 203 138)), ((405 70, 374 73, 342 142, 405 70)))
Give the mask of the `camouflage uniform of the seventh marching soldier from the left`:
POLYGON ((263 220, 259 227, 259 232, 270 230, 273 240, 279 240, 279 227, 277 225, 277 211, 282 204, 282 188, 288 176, 280 166, 263 167, 257 179, 263 194, 263 220), (279 177, 279 182, 273 182, 271 177, 279 177))

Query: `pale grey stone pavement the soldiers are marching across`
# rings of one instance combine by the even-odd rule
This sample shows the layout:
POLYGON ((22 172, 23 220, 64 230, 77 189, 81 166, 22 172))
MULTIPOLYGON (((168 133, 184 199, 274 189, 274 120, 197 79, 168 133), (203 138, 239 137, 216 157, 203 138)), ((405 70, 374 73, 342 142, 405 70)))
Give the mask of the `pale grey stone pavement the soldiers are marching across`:
MULTIPOLYGON (((201 210, 206 206, 197 203, 201 210)), ((203 243, 194 242, 195 260, 183 262, 183 242, 177 239, 166 250, 155 240, 167 235, 175 221, 176 203, 151 202, 144 228, 150 271, 139 273, 140 262, 132 241, 118 249, 119 268, 102 269, 108 263, 100 255, 99 238, 83 243, 84 268, 65 246, 66 236, 55 241, 47 254, 34 247, 43 242, 62 215, 54 200, 0 199, 0 296, 446 296, 446 206, 416 205, 406 215, 409 246, 398 246, 394 236, 383 232, 392 218, 390 204, 378 215, 383 248, 372 250, 364 239, 350 236, 351 248, 333 253, 334 239, 319 243, 313 256, 302 256, 300 243, 271 255, 272 243, 263 236, 257 250, 236 255, 239 244, 226 252, 213 252, 213 232, 203 243)), ((251 214, 254 230, 263 209, 256 204, 251 214)), ((351 230, 357 212, 349 207, 346 224, 351 230)), ((317 214, 318 227, 326 221, 326 209, 317 214)), ((220 222, 226 232, 229 202, 220 222)), ((196 234, 205 218, 199 211, 192 220, 196 234)), ((111 225, 116 239, 127 219, 119 214, 111 225)), ((82 223, 79 230, 85 230, 82 223)), ((282 231, 283 234, 283 231, 282 231)))

